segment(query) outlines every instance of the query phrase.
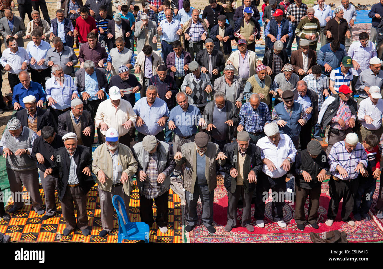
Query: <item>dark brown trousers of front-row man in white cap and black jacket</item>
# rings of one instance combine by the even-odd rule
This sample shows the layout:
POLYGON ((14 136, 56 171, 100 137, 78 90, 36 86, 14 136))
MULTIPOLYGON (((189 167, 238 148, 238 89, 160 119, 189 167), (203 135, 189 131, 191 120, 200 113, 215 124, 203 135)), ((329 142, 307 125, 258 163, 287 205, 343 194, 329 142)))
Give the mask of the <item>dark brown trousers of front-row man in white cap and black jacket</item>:
POLYGON ((77 227, 80 230, 88 228, 87 215, 87 195, 83 194, 80 186, 69 187, 65 190, 64 197, 61 201, 61 211, 64 217, 66 227, 73 231, 76 228, 76 217, 74 215, 73 202, 77 209, 77 227))

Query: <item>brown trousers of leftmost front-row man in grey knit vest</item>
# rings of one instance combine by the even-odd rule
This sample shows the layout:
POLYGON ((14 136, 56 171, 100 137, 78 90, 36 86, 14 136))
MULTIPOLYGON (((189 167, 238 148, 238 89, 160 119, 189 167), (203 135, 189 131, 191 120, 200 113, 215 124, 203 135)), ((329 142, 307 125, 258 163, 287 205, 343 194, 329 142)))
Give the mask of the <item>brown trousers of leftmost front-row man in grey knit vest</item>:
POLYGON ((39 174, 37 168, 33 170, 15 171, 7 167, 8 181, 11 189, 12 199, 14 201, 13 207, 18 209, 23 208, 24 200, 22 195, 17 195, 23 191, 23 185, 28 191, 29 197, 32 202, 34 211, 43 207, 43 200, 40 196, 39 174))

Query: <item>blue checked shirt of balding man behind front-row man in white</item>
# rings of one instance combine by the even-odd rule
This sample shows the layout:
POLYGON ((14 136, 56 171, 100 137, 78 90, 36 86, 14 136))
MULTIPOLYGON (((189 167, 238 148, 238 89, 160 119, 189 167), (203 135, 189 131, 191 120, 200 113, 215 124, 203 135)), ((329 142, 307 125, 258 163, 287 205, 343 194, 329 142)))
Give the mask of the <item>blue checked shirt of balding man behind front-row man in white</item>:
POLYGON ((257 109, 253 109, 250 102, 244 103, 239 111, 241 124, 246 132, 259 133, 263 131, 265 123, 271 122, 268 106, 260 102, 257 109))

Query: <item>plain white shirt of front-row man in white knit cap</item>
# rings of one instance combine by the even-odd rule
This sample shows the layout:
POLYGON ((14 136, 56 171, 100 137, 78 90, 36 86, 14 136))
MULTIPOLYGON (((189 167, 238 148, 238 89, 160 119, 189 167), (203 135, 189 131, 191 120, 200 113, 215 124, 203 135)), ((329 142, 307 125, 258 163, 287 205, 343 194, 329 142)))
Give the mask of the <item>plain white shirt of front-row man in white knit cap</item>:
POLYGON ((267 165, 263 165, 262 172, 271 178, 280 178, 286 174, 286 171, 283 170, 283 166, 279 166, 282 165, 283 161, 286 160, 287 157, 291 158, 291 163, 293 163, 295 160, 296 149, 293 141, 288 135, 280 134, 278 146, 270 142, 267 136, 259 139, 257 146, 262 150, 261 159, 263 160, 264 158, 267 158, 268 160, 272 161, 277 168, 271 172, 268 170, 267 165))

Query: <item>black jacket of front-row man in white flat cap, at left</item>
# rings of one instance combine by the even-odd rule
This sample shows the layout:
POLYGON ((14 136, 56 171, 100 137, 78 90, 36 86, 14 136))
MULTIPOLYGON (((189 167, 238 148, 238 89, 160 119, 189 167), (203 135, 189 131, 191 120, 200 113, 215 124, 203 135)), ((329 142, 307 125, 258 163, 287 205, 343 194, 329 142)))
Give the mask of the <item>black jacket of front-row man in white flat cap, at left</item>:
MULTIPOLYGON (((54 151, 53 157, 55 163, 50 168, 53 169, 52 174, 58 175, 57 192, 59 194, 60 201, 62 201, 69 179, 69 153, 65 147, 61 147, 54 151)), ((77 145, 76 151, 74 153, 74 161, 77 165, 76 174, 80 181, 81 190, 83 194, 87 194, 95 184, 95 181, 93 180, 92 176, 87 176, 82 173, 82 170, 85 167, 88 167, 90 171, 92 171, 92 151, 85 146, 77 145)))

